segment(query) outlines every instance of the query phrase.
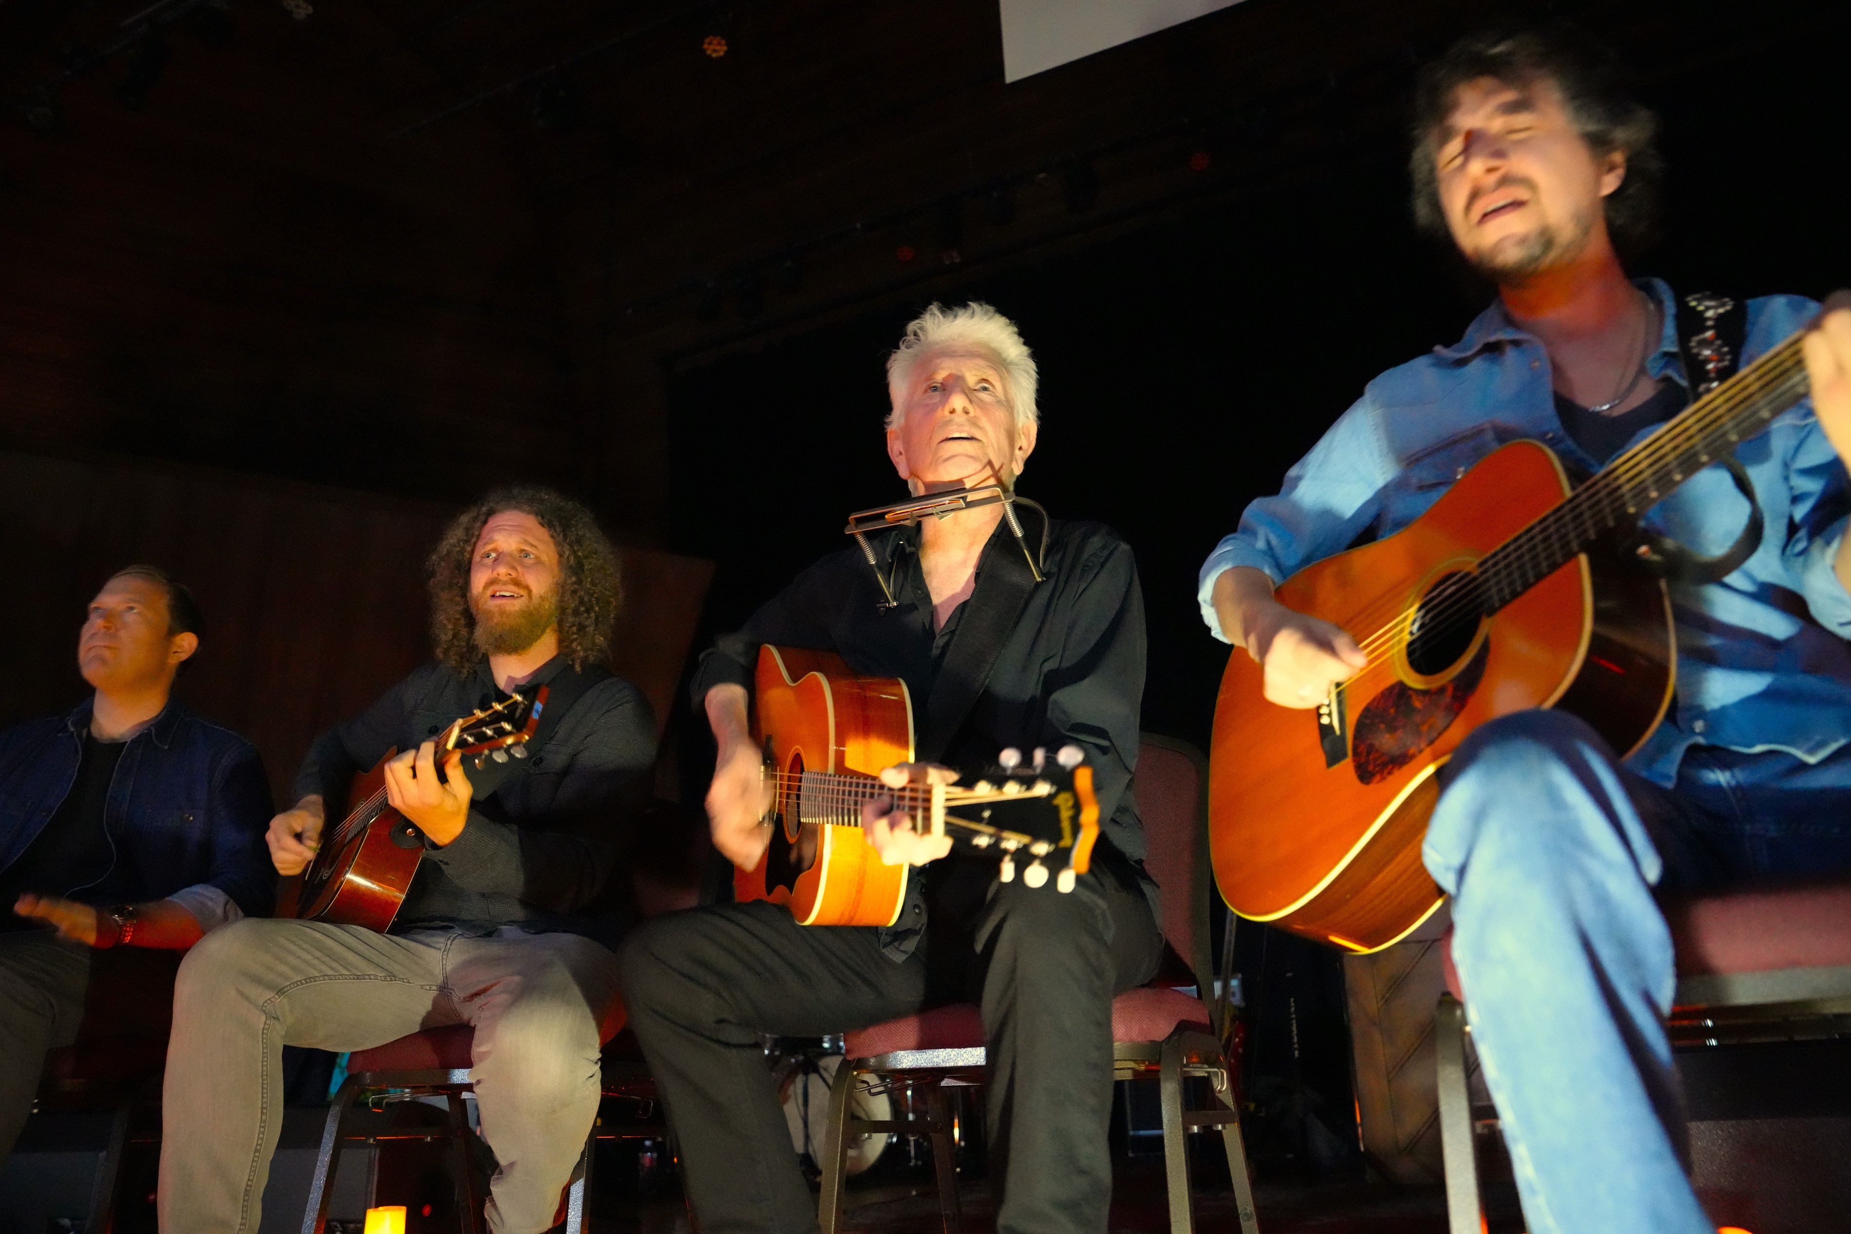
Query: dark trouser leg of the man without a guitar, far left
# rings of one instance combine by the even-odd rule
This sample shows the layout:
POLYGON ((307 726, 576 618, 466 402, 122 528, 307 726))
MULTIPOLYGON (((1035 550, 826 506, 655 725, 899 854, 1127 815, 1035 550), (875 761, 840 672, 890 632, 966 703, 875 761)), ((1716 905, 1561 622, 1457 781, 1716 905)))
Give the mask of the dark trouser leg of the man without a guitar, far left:
POLYGON ((31 1116, 44 1055, 78 1040, 91 949, 50 931, 0 934, 0 1160, 31 1116))

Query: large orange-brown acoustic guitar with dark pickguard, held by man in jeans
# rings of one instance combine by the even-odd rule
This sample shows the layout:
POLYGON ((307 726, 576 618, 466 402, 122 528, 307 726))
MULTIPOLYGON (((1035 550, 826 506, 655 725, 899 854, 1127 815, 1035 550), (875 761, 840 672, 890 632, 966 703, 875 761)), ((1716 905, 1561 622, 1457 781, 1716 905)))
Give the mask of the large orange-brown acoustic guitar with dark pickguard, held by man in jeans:
POLYGON ((1677 659, 1638 520, 1699 470, 1734 464, 1736 444, 1805 394, 1794 335, 1579 488, 1547 446, 1510 442, 1403 531, 1279 585, 1281 603, 1340 625, 1368 664, 1316 710, 1292 710, 1262 697, 1246 651, 1229 657, 1209 805, 1227 905, 1379 951, 1442 901, 1420 845, 1436 771, 1473 729, 1562 707, 1616 751, 1638 749, 1677 659))

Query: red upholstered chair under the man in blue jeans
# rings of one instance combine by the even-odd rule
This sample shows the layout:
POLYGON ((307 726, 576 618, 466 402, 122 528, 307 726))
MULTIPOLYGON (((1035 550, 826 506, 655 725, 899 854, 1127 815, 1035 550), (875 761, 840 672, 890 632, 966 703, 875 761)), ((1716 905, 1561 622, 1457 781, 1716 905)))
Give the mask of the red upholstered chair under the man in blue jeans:
MULTIPOLYGON (((1851 1014, 1851 882, 1699 895, 1668 903, 1664 916, 1677 951, 1673 1047, 1831 1036, 1829 1018, 1851 1014)), ((1447 993, 1436 1032, 1446 1208, 1451 1234, 1479 1234, 1470 1029, 1449 934, 1444 947, 1447 993)))

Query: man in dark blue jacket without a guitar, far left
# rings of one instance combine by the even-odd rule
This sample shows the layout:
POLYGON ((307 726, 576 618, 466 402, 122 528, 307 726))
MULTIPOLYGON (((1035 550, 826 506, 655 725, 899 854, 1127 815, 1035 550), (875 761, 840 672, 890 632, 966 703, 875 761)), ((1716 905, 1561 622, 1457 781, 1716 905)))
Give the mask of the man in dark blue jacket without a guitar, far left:
MULTIPOLYGON (((78 1040, 102 973, 163 973, 159 962, 102 964, 98 951, 185 951, 217 925, 270 912, 257 751, 172 697, 198 631, 185 586, 154 566, 122 570, 78 638, 94 694, 67 716, 0 731, 0 907, 11 908, 0 912, 0 1158, 31 1112, 46 1051, 78 1040)), ((143 1023, 85 1034, 165 1030, 170 986, 130 1003, 143 1023)))

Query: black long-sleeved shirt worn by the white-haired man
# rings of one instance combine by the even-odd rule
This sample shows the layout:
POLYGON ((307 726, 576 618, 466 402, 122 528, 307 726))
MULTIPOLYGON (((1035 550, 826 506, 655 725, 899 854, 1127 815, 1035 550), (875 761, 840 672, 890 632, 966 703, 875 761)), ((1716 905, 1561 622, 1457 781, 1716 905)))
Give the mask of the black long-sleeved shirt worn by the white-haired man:
MULTIPOLYGON (((1029 516, 1031 549, 1038 548, 1035 524, 1029 516)), ((894 609, 879 609, 885 596, 876 566, 859 549, 824 557, 702 657, 692 683, 696 712, 716 685, 752 688, 763 644, 835 651, 859 673, 907 683, 920 759, 975 771, 992 766, 1007 746, 1044 746, 1050 755, 1066 744, 1085 749, 1105 820, 1101 834, 1118 855, 1142 864, 1144 823, 1131 773, 1144 701, 1144 594, 1131 546, 1101 524, 1053 522, 1042 566, 1048 577, 1031 585, 1022 548, 1000 522, 977 562, 972 598, 935 631, 918 529, 872 542, 877 568, 890 577, 894 609), (959 720, 935 716, 935 688, 948 657, 974 622, 1007 622, 1016 612, 1012 594, 1020 592, 1009 588, 1025 588, 1025 599, 975 703, 959 720), (935 720, 955 727, 935 733, 935 720)), ((896 958, 911 953, 924 929, 920 882, 909 881, 909 903, 887 936, 896 958)), ((1149 890, 1155 912, 1155 886, 1149 890)))

